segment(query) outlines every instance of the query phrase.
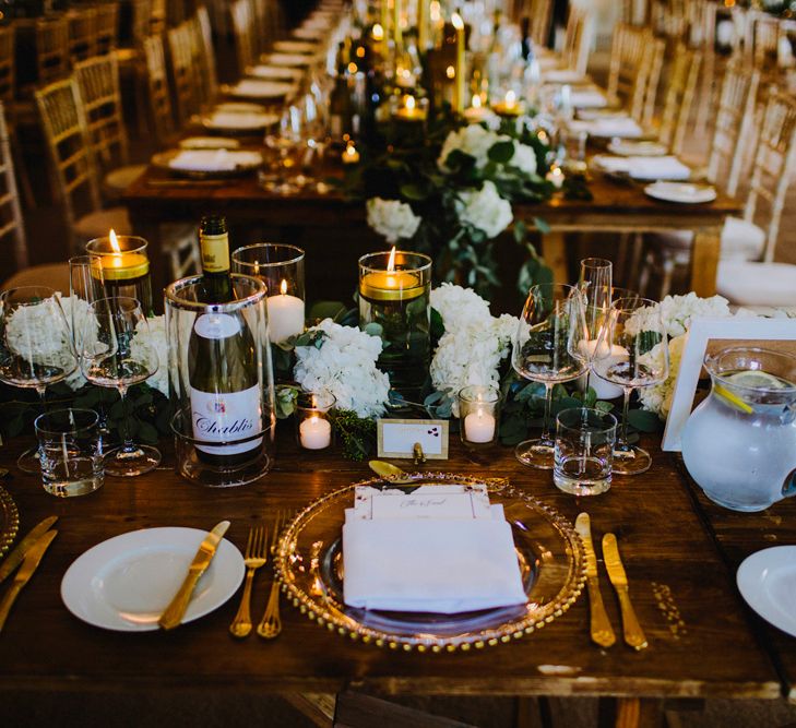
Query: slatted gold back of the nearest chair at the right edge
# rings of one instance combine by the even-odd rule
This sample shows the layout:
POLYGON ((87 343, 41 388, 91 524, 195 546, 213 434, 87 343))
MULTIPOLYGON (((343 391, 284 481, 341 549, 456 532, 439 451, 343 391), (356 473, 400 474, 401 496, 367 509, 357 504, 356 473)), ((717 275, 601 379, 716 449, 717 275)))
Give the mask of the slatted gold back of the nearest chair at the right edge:
POLYGON ((774 260, 780 220, 791 178, 796 168, 796 99, 772 91, 763 114, 755 154, 744 219, 757 223, 765 232, 763 260, 774 260), (759 218, 768 214, 768 224, 759 218))

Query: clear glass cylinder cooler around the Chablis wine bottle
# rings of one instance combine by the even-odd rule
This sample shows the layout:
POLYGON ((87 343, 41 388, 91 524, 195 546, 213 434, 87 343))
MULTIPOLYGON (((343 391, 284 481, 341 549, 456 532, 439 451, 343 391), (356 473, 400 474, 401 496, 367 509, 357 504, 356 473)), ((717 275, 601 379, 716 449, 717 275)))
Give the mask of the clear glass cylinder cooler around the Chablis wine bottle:
POLYGON ((233 274, 228 303, 203 303, 201 284, 192 276, 166 288, 177 470, 203 486, 242 486, 274 458, 265 284, 233 274))

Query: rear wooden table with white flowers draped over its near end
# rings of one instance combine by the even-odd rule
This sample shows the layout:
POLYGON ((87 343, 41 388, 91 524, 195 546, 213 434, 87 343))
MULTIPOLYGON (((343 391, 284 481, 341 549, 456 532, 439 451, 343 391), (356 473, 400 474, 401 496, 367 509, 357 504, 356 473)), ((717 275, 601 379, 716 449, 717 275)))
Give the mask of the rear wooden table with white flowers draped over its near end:
MULTIPOLYGON (((337 193, 320 195, 302 192, 280 196, 265 192, 254 177, 218 184, 175 180, 150 168, 126 191, 133 229, 150 241, 153 287, 167 281, 159 254, 158 226, 168 220, 192 220, 209 212, 225 214, 230 225, 240 225, 252 235, 234 237, 233 244, 258 240, 289 242, 307 251, 307 289, 323 299, 332 291, 355 290, 360 255, 384 247, 383 239, 365 222, 363 203, 345 203, 337 193)), ((543 238, 543 253, 561 282, 567 282, 566 232, 637 232, 690 229, 696 232, 691 256, 690 289, 699 296, 715 293, 720 236, 724 218, 739 211, 736 200, 720 195, 710 204, 686 205, 648 198, 643 186, 615 182, 595 175, 590 189, 593 201, 571 201, 556 196, 542 205, 515 205, 518 219, 533 227, 539 217, 550 226, 543 238)), ((243 235, 241 232, 238 235, 243 235)), ((515 247, 514 247, 515 248, 515 247)), ((508 251, 516 254, 515 251, 508 251)), ((509 262, 515 275, 522 260, 509 262), (513 267, 512 267, 513 266, 513 267)), ((512 286, 513 288, 513 286, 512 286)))

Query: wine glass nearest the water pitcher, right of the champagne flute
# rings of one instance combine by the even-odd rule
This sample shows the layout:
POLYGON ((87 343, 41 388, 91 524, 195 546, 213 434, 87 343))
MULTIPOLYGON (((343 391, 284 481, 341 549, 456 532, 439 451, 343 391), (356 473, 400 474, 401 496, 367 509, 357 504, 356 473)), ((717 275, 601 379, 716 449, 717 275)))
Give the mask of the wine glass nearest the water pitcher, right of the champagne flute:
POLYGON ((628 442, 628 407, 634 389, 661 384, 669 373, 666 329, 655 301, 638 297, 614 301, 592 359, 592 371, 620 386, 625 395, 622 426, 614 447, 614 473, 644 473, 652 458, 645 450, 628 442))

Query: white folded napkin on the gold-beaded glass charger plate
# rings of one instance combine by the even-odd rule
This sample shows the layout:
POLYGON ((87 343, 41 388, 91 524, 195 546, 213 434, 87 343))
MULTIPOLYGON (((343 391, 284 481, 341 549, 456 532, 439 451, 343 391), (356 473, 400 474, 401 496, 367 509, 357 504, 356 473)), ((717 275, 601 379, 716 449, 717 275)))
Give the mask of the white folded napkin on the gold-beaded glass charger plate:
POLYGON ((348 520, 345 602, 445 614, 525 604, 511 527, 500 516, 348 520))

